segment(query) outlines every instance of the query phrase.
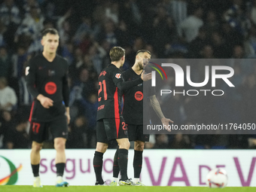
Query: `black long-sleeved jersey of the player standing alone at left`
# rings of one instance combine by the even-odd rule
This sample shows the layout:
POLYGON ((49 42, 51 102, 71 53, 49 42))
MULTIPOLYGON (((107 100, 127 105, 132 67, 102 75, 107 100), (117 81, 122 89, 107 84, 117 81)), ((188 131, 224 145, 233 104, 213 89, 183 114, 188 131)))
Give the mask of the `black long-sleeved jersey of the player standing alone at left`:
POLYGON ((68 70, 68 62, 59 55, 56 55, 52 62, 42 53, 29 60, 29 66, 26 68, 26 86, 35 99, 29 120, 49 122, 65 117, 65 106, 69 106, 68 70), (44 108, 36 99, 38 94, 52 99, 53 106, 44 108))

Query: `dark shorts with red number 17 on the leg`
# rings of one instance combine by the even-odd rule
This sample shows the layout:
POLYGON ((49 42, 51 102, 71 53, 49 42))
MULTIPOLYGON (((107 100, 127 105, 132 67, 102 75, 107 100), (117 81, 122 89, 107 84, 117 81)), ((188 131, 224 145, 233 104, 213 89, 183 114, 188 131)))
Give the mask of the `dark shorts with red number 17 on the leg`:
POLYGON ((33 142, 42 143, 49 139, 49 132, 53 136, 53 139, 62 137, 67 139, 68 137, 68 123, 66 118, 54 120, 51 122, 31 122, 29 135, 33 142))

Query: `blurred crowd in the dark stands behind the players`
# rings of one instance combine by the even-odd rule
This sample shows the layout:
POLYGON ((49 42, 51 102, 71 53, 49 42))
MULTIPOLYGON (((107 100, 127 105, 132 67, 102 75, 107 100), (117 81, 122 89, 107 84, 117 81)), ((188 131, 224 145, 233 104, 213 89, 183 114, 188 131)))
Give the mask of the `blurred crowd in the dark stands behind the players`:
MULTIPOLYGON (((133 66, 141 49, 149 50, 152 59, 256 57, 256 0, 2 0, 0 18, 0 148, 31 145, 32 97, 24 71, 29 59, 42 51, 41 31, 48 27, 59 31, 58 53, 69 61, 67 148, 96 146, 97 78, 111 62, 108 53, 113 46, 126 50, 123 70, 133 66)), ((173 96, 169 105, 162 105, 163 113, 178 123, 198 119, 209 123, 224 117, 226 123, 233 117, 255 123, 255 66, 233 64, 239 93, 227 93, 219 100, 173 96), (209 102, 215 114, 204 110, 209 102)), ((204 71, 197 73, 204 78, 204 71)), ((146 148, 175 149, 255 146, 256 136, 242 134, 163 134, 151 136, 146 144, 146 148)), ((52 148, 52 141, 44 147, 52 148)))

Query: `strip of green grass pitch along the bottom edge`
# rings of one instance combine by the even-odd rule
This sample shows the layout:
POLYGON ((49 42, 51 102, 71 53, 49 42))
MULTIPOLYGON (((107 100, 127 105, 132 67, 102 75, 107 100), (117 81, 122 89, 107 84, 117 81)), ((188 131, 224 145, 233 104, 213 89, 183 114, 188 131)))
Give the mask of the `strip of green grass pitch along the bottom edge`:
POLYGON ((121 187, 110 187, 110 186, 70 186, 70 187, 54 187, 44 186, 42 188, 34 188, 32 186, 18 186, 18 185, 5 185, 0 186, 1 192, 88 192, 88 191, 104 191, 104 192, 247 192, 256 191, 256 187, 225 187, 209 188, 209 187, 141 187, 141 186, 121 186, 121 187))

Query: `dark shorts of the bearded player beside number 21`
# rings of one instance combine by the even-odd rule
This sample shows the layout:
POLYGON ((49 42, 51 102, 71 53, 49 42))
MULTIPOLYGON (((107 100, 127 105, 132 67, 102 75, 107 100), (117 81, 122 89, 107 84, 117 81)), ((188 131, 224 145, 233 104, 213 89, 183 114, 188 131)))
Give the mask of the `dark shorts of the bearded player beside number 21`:
POLYGON ((141 141, 148 142, 149 134, 143 134, 143 125, 126 124, 128 130, 128 138, 130 142, 141 141))

